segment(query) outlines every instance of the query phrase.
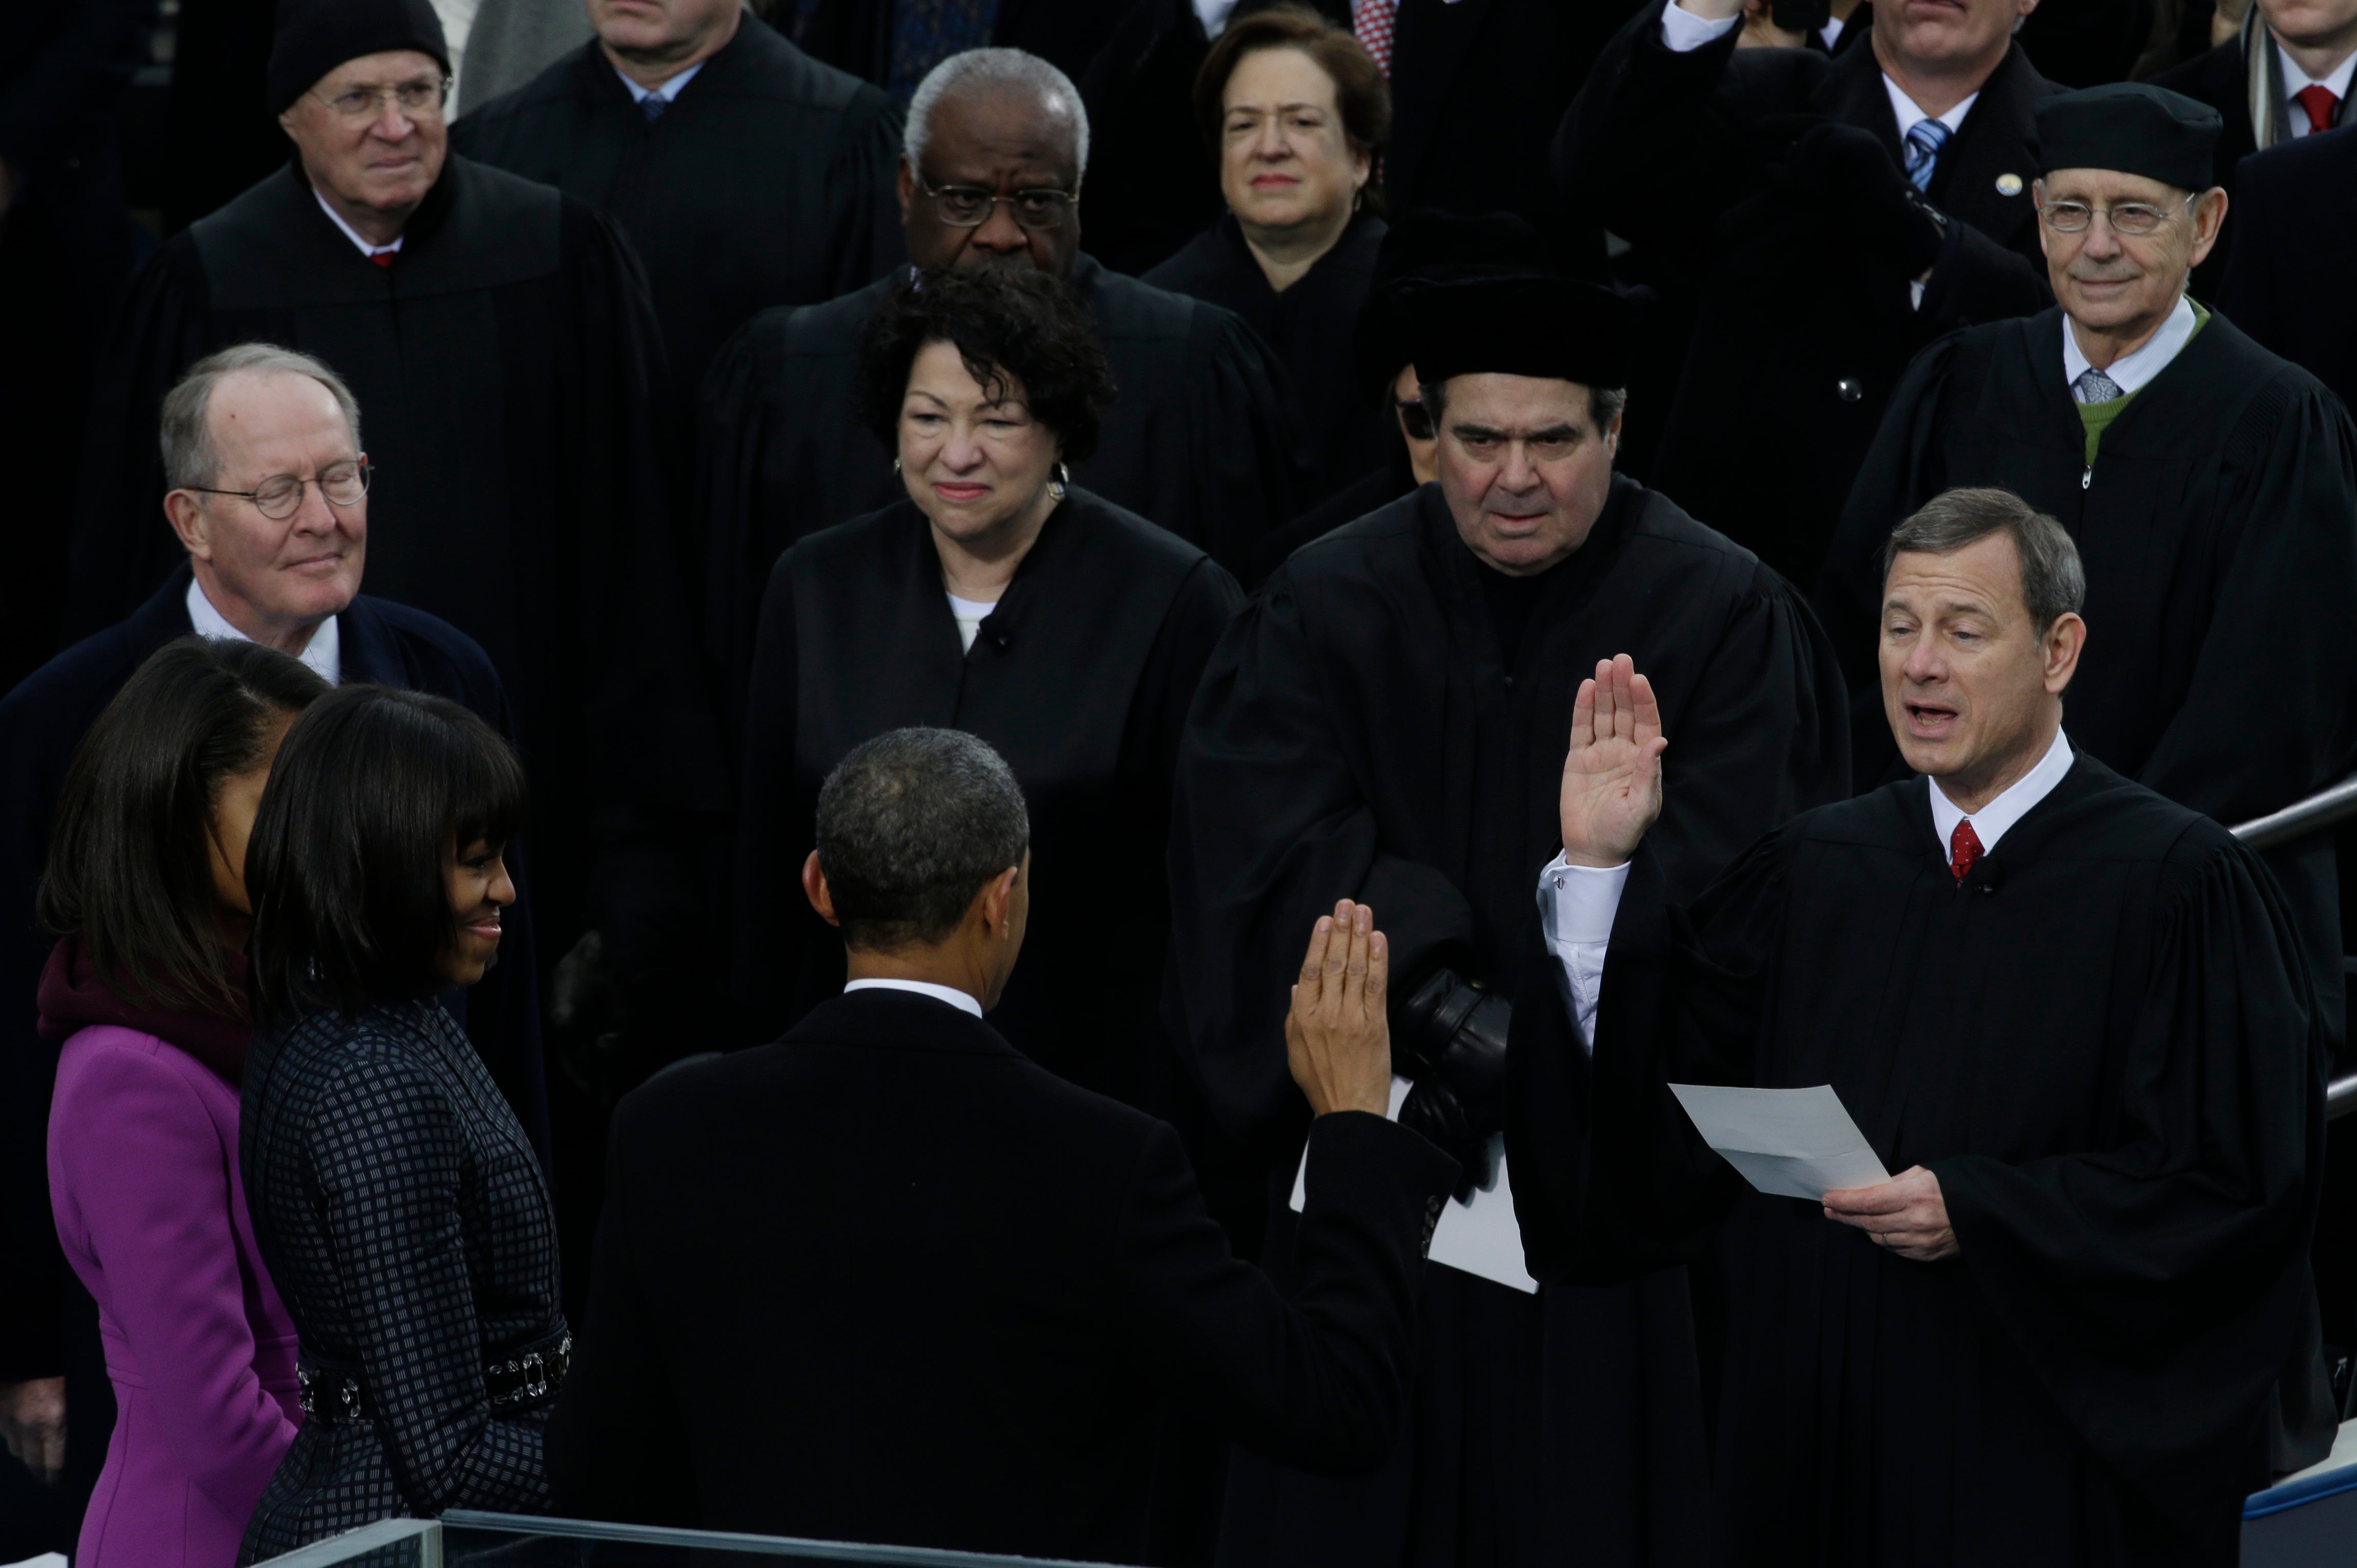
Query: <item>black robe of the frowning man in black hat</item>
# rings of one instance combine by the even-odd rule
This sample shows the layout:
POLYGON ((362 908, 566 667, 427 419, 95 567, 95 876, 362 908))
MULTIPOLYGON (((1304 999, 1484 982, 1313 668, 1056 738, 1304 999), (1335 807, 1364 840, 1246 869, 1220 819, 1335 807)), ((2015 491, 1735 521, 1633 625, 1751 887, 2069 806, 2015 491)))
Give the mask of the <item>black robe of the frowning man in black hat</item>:
MULTIPOLYGON (((1801 597, 1615 476, 1537 587, 1508 665, 1438 486, 1303 545, 1221 639, 1171 821, 1181 1049, 1214 1115, 1292 1186, 1296 931, 1374 905, 1395 995, 1435 962, 1511 986, 1560 844, 1572 698, 1633 653, 1676 736, 1662 854, 1688 894, 1751 837, 1848 792, 1831 648, 1801 597)), ((1518 1002, 1520 1004, 1520 1002, 1518 1002)), ((1285 1257, 1289 1214, 1270 1228, 1285 1257)), ((1428 1266, 1409 1434, 1367 1481, 1237 1457, 1226 1563, 1688 1563, 1702 1396, 1683 1271, 1537 1297, 1428 1266)))

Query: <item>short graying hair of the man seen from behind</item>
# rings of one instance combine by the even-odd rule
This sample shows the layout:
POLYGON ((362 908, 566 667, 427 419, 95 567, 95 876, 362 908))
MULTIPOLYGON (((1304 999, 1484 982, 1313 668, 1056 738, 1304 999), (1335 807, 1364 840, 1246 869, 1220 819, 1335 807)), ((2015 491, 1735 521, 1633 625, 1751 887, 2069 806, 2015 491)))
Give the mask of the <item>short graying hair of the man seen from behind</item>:
POLYGON ((818 790, 818 870, 851 948, 896 953, 940 941, 1028 849, 1030 813, 1014 769, 957 729, 865 740, 818 790))

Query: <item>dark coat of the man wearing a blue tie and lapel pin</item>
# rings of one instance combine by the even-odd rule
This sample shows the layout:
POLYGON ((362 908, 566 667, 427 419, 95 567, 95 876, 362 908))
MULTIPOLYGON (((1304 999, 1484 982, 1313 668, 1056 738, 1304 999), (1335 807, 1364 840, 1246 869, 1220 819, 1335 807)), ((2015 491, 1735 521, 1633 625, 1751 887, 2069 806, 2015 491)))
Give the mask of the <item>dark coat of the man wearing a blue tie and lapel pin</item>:
POLYGON ((1659 7, 1636 17, 1563 118, 1556 177, 1636 248, 1664 335, 1690 323, 1676 387, 1650 408, 1648 387, 1631 389, 1631 424, 1655 422, 1643 479, 1808 585, 1914 351, 2048 302, 2032 108, 2058 87, 2020 47, 1982 85, 1928 191, 1949 226, 1909 309, 1904 266, 1850 236, 1843 191, 1784 167, 1827 120, 1904 167, 1874 50, 1737 52, 1735 38, 1676 54, 1659 7))

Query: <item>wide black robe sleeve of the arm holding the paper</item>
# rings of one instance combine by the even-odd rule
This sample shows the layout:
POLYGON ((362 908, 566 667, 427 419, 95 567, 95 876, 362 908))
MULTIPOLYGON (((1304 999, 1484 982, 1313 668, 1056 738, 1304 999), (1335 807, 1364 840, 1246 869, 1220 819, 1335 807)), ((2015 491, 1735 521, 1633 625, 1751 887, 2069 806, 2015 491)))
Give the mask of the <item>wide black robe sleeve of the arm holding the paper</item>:
POLYGON ((2102 1153, 1935 1160, 1959 1257, 2072 1424, 2154 1497, 2239 1497, 2211 1441, 2315 1344, 2326 1045, 2275 882, 2187 835, 2102 1153))

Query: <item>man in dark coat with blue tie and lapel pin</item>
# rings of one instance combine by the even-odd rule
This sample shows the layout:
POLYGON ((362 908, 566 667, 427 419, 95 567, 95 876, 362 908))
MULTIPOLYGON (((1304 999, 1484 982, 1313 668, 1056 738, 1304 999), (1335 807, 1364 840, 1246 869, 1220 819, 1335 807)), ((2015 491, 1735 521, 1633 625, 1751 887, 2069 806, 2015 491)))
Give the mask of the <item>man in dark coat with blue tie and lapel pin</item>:
POLYGON ((1737 0, 1648 5, 1556 137, 1567 198, 1690 328, 1643 479, 1791 582, 1914 351, 2048 302, 2029 113, 2058 87, 2013 42, 2034 5, 1876 5, 1834 57, 1737 52, 1737 0))

